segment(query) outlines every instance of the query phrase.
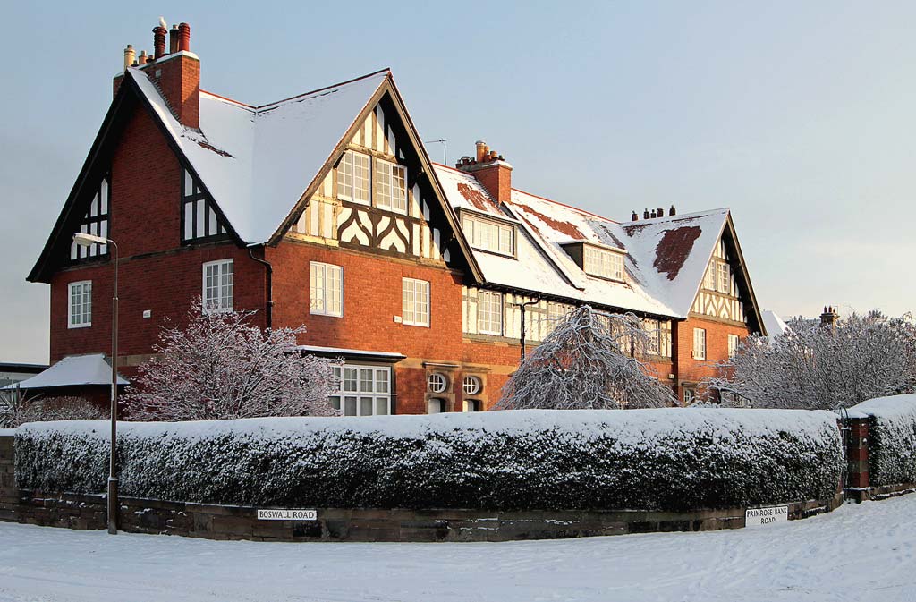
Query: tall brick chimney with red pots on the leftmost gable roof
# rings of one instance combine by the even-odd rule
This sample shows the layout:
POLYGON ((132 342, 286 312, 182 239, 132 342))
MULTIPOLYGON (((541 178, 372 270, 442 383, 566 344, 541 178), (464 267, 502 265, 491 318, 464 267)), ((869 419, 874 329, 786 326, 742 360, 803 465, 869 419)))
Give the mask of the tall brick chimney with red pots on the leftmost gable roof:
MULTIPOLYGON (((149 80, 158 85, 172 113, 182 125, 200 128, 201 60, 191 53, 191 26, 187 23, 172 26, 172 40, 168 46, 169 54, 166 54, 168 33, 165 21, 160 20, 158 27, 153 27, 154 54, 148 56, 141 51, 146 61, 138 60, 136 69, 143 70, 149 80)), ((124 73, 114 77, 114 93, 117 93, 123 81, 124 73)))

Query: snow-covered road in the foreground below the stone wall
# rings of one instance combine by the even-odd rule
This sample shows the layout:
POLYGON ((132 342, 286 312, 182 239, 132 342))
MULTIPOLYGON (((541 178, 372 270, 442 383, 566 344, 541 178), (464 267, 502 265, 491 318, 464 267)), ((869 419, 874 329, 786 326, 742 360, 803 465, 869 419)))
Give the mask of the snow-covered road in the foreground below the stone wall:
POLYGON ((0 601, 916 599, 916 495, 739 531, 509 543, 208 542, 0 523, 0 601))

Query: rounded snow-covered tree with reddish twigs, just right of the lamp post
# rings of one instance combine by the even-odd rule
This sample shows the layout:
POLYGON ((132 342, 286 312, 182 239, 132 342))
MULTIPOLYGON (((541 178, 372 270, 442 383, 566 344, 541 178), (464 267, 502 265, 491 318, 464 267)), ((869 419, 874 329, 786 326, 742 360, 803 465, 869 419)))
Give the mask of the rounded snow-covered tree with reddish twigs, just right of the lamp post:
POLYGON ((165 327, 125 395, 136 420, 190 421, 259 416, 333 416, 333 360, 303 354, 305 327, 262 331, 254 312, 205 312, 200 300, 185 327, 165 327))

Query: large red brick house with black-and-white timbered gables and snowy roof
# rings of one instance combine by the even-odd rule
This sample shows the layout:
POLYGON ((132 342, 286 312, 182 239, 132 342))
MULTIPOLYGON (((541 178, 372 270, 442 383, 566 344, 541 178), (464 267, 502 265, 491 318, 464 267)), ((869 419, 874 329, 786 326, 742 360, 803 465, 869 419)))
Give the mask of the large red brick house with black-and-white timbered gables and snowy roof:
MULTIPOLYGON (((251 106, 200 88, 190 27, 114 79, 114 100, 28 279, 50 285, 50 359, 110 349, 107 248, 120 250, 119 365, 147 359, 202 296, 298 326, 344 358, 348 414, 483 410, 577 304, 634 312, 640 350, 689 399, 740 337, 763 332, 727 209, 613 220, 512 188, 484 143, 431 162, 390 71, 251 106)), ((134 63, 132 65, 132 63, 134 63)))

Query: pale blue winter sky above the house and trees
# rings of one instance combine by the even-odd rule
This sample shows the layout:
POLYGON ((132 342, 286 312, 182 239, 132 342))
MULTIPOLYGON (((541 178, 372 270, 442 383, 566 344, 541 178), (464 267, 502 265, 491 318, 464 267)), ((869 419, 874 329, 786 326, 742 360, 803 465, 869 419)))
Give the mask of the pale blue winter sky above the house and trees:
POLYGON ((731 207, 783 317, 916 310, 916 3, 310 4, 6 6, 0 361, 48 361, 49 287, 25 279, 160 15, 191 24, 213 93, 265 104, 390 67, 450 163, 483 138, 516 188, 618 220, 731 207))

